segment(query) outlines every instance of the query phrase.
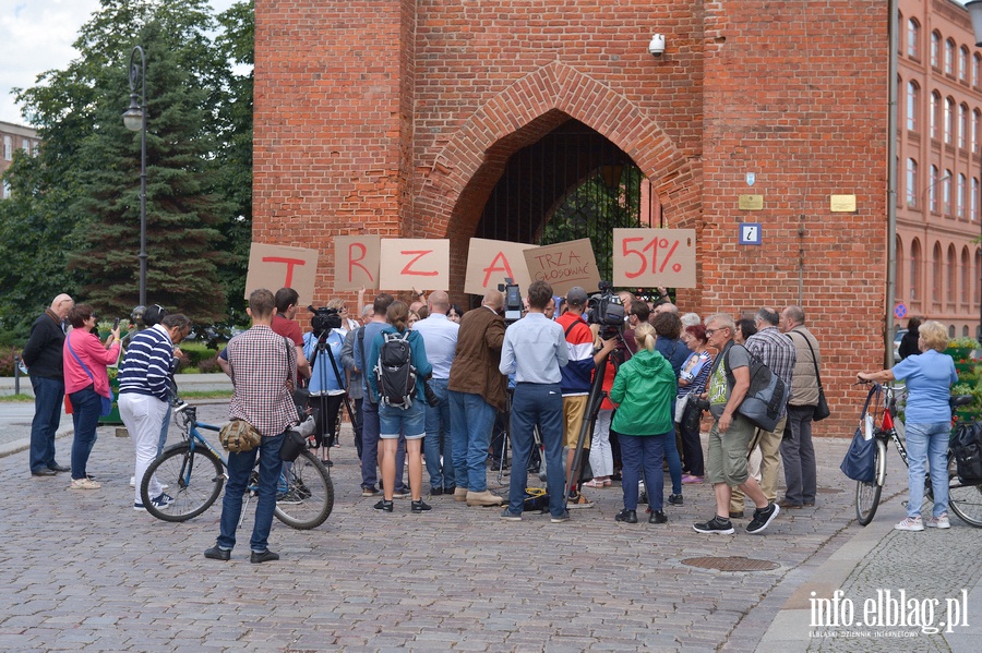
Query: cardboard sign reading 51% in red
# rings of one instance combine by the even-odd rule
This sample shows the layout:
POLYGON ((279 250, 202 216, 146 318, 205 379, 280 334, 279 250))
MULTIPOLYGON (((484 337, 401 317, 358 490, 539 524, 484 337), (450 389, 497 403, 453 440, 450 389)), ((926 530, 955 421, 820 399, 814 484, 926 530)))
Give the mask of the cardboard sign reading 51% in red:
POLYGON ((614 229, 613 285, 695 288, 695 229, 614 229))

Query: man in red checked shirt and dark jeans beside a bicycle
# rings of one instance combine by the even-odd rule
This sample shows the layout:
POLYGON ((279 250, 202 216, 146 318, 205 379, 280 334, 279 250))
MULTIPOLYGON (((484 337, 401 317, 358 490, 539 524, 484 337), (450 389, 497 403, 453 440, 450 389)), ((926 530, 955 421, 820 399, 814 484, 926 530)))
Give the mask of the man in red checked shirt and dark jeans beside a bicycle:
POLYGON ((279 559, 279 554, 270 551, 267 544, 283 467, 279 447, 285 432, 297 422, 291 391, 297 383, 297 352, 291 342, 270 328, 276 313, 272 292, 266 289, 252 291, 247 312, 252 318, 252 328, 228 343, 229 376, 235 387, 228 416, 249 422, 263 438, 258 449, 228 455, 228 484, 221 501, 218 541, 205 551, 205 557, 213 560, 231 557, 236 528, 242 513, 242 495, 255 456, 260 454, 259 501, 250 541, 250 561, 266 563, 279 559))

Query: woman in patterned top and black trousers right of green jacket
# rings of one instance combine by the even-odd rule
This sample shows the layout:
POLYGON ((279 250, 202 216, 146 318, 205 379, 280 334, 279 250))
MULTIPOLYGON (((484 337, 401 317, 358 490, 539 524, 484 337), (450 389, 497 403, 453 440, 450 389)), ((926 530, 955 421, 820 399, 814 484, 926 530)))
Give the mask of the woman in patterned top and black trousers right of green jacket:
POLYGON ((682 439, 682 483, 702 483, 706 473, 703 443, 699 439, 699 423, 703 410, 695 401, 706 390, 712 355, 706 327, 702 324, 685 327, 682 340, 692 353, 679 372, 679 394, 675 396, 675 430, 682 439))

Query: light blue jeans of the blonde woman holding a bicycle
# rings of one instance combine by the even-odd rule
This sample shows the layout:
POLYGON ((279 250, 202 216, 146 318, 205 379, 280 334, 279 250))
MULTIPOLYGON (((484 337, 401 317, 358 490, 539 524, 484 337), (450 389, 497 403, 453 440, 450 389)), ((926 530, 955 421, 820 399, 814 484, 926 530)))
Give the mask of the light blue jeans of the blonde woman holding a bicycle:
POLYGON ((948 511, 948 438, 950 422, 907 425, 907 465, 909 468, 910 497, 907 516, 920 517, 924 503, 926 467, 931 470, 931 488, 934 492, 932 517, 948 511))

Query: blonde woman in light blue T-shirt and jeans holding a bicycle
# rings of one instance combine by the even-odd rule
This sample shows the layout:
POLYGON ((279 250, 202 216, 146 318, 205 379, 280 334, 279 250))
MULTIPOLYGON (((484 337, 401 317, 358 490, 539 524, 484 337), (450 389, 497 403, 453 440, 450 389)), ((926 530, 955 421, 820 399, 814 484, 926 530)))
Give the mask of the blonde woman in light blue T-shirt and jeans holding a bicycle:
POLYGON ((948 331, 939 322, 925 322, 918 329, 920 355, 911 355, 890 370, 860 372, 860 380, 907 384, 907 467, 910 496, 907 519, 898 531, 923 531, 921 505, 924 503, 925 467, 931 471, 934 506, 927 527, 947 529, 948 523, 948 437, 951 433, 951 385, 958 382, 955 361, 943 353, 948 348, 948 331), (925 465, 926 463, 926 465, 925 465))

